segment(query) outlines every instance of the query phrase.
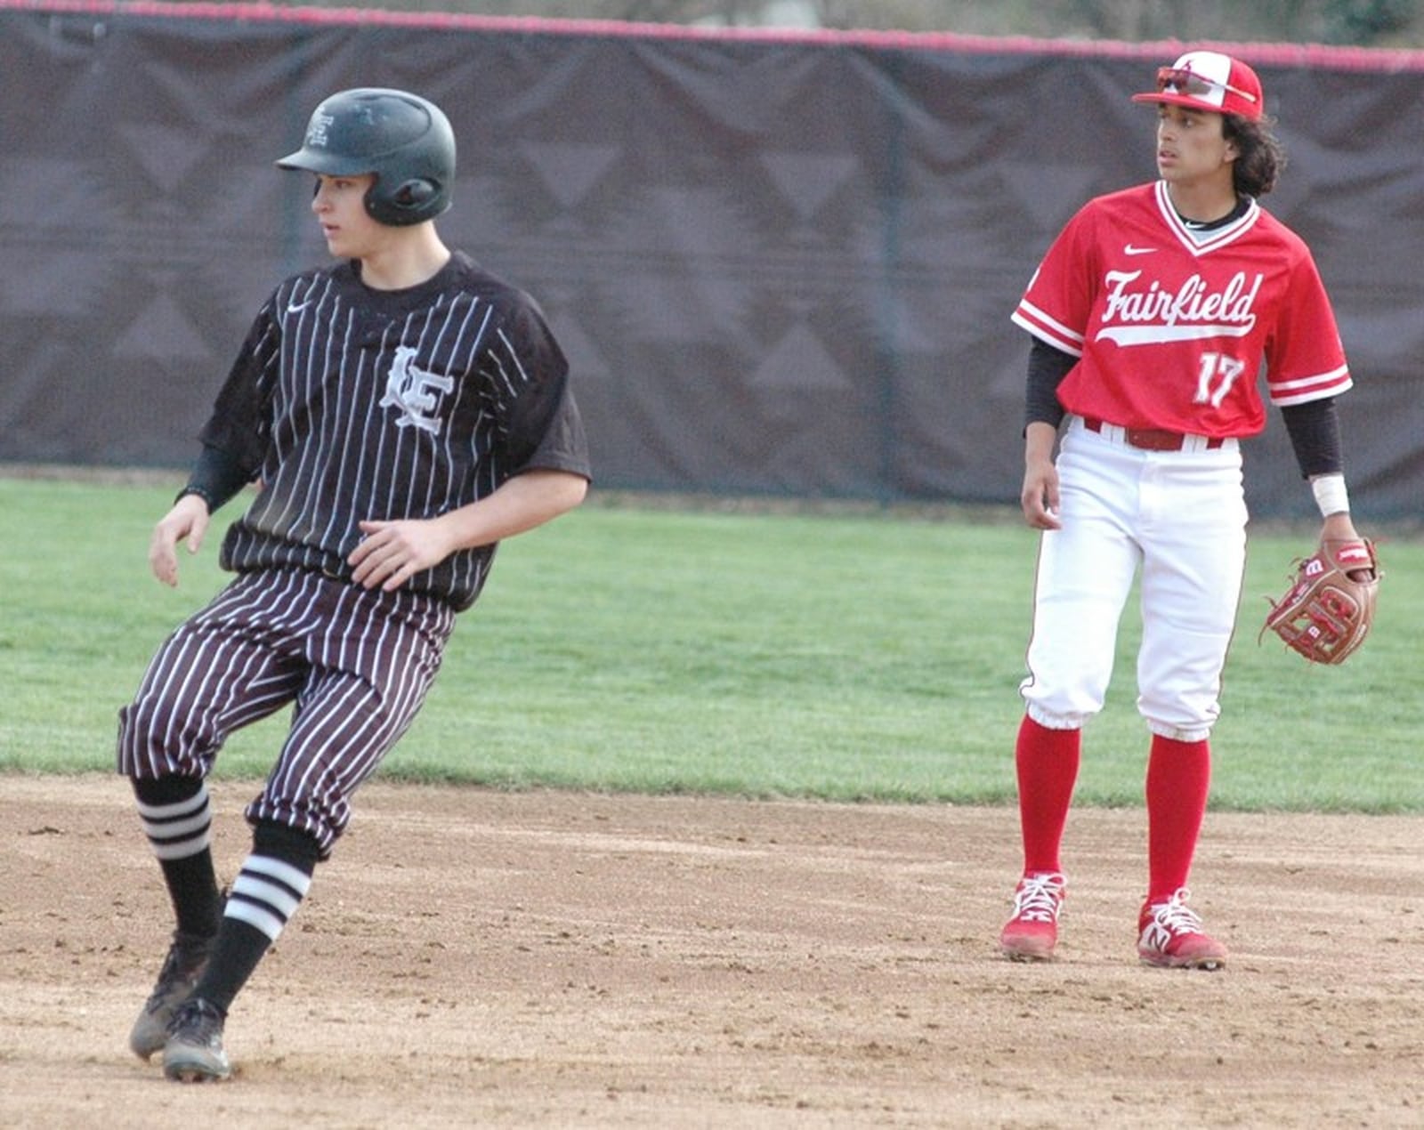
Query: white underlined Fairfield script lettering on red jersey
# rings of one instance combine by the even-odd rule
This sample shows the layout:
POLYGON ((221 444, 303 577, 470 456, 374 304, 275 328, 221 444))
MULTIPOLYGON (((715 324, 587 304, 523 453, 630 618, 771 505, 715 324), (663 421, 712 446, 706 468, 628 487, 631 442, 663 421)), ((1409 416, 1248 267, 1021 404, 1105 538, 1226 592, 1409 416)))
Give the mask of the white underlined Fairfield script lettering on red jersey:
POLYGON ((1245 337, 1256 326, 1262 275, 1247 280, 1246 272, 1237 270, 1220 290, 1212 290, 1200 275, 1192 275, 1176 292, 1163 289, 1158 279, 1134 287, 1141 278, 1141 270, 1109 270, 1104 276, 1108 293, 1099 340, 1145 346, 1245 337))

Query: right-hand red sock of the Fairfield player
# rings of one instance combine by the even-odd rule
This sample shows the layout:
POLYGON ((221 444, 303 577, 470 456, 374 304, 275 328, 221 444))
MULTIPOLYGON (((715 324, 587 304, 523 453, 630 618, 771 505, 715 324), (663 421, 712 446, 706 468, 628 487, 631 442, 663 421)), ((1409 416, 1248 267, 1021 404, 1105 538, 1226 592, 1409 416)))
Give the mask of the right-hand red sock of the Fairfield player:
POLYGON ((1152 736, 1148 754, 1148 901, 1165 902, 1186 887, 1212 783, 1208 741, 1152 736))

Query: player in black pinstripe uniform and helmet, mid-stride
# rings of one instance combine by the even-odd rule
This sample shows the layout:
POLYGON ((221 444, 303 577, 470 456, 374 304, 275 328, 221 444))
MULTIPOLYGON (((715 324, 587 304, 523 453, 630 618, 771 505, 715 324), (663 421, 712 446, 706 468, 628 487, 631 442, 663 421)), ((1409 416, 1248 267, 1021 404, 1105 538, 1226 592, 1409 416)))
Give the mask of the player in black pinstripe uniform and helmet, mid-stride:
POLYGON ((222 544, 236 576, 120 712, 118 770, 177 919, 130 1046, 162 1052, 184 1082, 231 1074, 228 1008, 420 709, 496 545, 578 505, 590 477, 538 307, 436 232, 454 178, 444 114, 403 91, 342 91, 278 165, 316 175, 337 263, 283 282, 252 323, 150 545, 175 585, 178 544, 195 552, 212 511, 256 482, 222 544), (286 706, 224 895, 205 778, 229 733, 286 706))

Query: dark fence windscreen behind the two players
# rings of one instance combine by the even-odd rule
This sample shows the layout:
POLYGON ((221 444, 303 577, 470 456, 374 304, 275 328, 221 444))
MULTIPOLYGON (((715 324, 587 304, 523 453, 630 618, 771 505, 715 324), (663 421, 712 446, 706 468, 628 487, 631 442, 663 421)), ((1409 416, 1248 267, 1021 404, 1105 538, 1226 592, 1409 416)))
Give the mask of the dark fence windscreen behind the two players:
MULTIPOLYGON (((336 90, 439 102, 451 246, 530 290, 607 487, 1014 502, 1008 315, 1151 179, 1175 44, 669 33, 272 7, 0 6, 0 460, 185 465, 256 307, 323 262, 273 159, 336 90)), ((1424 495, 1424 53, 1237 50, 1356 389, 1356 509, 1424 495)), ((1309 514, 1279 414, 1259 515, 1309 514)))

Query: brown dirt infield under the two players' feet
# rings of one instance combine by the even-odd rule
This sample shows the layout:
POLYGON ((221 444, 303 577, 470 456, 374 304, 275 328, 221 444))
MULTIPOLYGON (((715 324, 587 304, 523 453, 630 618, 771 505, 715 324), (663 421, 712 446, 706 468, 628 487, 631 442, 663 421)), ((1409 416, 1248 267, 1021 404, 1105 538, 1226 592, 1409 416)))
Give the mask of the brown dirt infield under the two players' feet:
MULTIPOLYGON (((249 786, 214 787, 224 878, 249 786)), ((1141 811, 1075 811, 1062 956, 995 955, 1008 808, 369 784, 228 1020, 125 1047, 167 902, 118 778, 0 777, 0 1124, 1420 1126, 1424 820, 1208 818, 1222 973, 1138 965, 1141 811)))

